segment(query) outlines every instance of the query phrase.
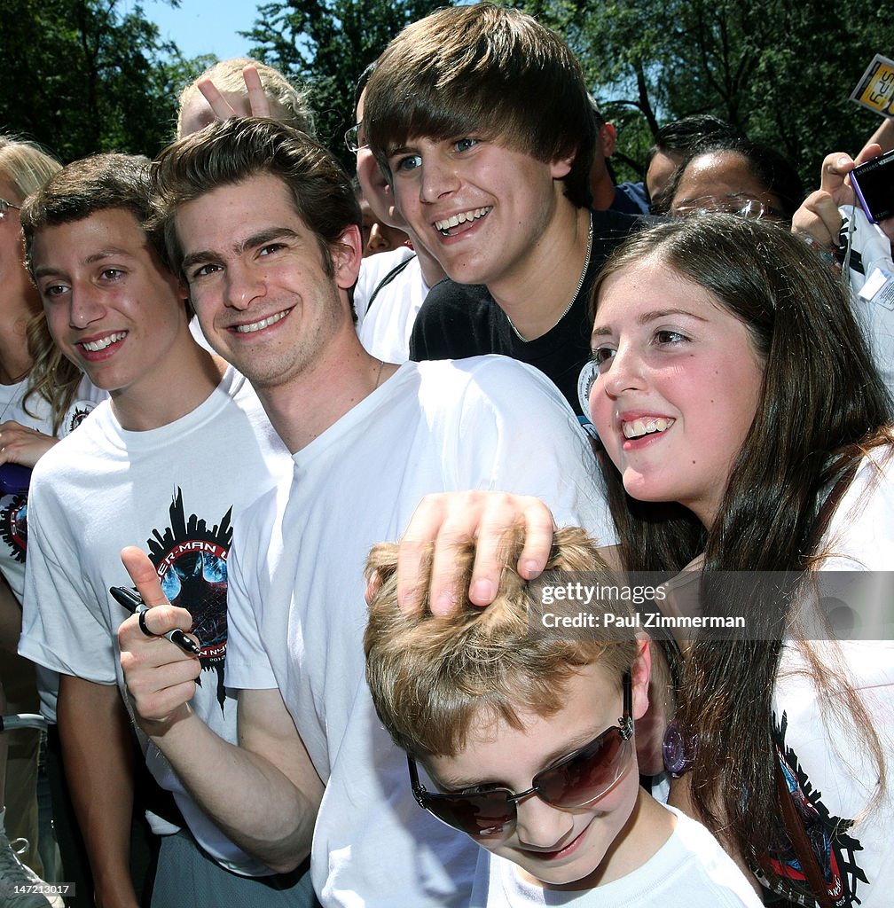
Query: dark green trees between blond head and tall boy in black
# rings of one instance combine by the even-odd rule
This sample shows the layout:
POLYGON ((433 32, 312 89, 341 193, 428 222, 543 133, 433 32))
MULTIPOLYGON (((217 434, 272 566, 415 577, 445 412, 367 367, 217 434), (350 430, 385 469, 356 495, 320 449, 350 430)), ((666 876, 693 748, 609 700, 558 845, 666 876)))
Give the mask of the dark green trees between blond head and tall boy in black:
POLYGON ((320 141, 353 167, 342 135, 353 125, 357 78, 405 25, 444 0, 291 0, 258 9, 251 54, 311 89, 320 141))

